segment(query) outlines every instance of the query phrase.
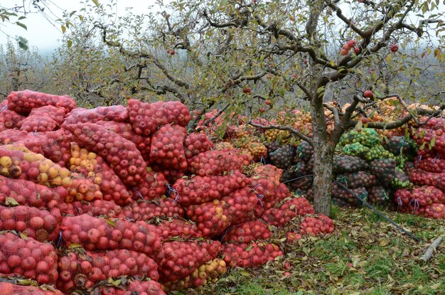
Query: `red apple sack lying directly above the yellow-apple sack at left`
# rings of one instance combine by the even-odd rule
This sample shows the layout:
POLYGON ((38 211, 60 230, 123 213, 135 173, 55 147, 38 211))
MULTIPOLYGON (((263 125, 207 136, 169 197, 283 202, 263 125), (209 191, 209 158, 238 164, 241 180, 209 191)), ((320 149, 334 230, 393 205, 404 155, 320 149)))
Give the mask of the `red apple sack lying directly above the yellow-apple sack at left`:
POLYGON ((16 144, 23 144, 36 154, 43 154, 45 158, 66 167, 70 161, 71 134, 59 129, 52 132, 30 133, 26 138, 19 139, 16 144))

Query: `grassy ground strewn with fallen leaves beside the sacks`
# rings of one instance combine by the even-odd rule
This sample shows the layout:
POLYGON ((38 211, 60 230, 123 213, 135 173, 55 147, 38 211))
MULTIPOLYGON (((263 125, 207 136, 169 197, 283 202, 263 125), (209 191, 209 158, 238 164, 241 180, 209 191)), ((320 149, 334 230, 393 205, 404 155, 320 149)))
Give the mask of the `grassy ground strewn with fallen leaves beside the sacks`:
POLYGON ((428 263, 418 260, 432 240, 445 237, 445 220, 385 214, 422 242, 368 209, 334 207, 333 234, 300 240, 261 269, 231 269, 214 284, 176 294, 445 294, 445 240, 428 263))

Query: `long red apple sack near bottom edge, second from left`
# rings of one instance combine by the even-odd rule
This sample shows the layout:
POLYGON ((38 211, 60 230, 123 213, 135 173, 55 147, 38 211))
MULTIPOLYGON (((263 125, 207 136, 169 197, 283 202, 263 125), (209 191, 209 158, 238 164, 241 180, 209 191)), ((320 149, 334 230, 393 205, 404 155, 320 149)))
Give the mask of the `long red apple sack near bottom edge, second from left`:
POLYGON ((90 289, 99 281, 127 277, 149 277, 158 281, 158 264, 144 253, 129 250, 68 252, 59 257, 58 289, 90 289))

